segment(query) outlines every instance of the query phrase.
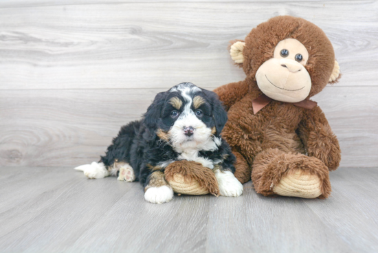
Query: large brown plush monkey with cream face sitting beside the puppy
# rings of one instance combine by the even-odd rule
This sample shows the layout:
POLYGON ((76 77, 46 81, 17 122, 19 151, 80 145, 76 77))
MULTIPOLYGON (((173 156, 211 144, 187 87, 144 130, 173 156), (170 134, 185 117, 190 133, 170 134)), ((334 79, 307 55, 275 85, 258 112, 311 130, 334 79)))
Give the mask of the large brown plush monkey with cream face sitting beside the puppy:
POLYGON ((340 78, 326 34, 304 19, 281 16, 230 47, 247 78, 215 89, 228 111, 222 136, 236 155, 236 178, 256 192, 326 198, 340 146, 320 107, 309 100, 340 78))

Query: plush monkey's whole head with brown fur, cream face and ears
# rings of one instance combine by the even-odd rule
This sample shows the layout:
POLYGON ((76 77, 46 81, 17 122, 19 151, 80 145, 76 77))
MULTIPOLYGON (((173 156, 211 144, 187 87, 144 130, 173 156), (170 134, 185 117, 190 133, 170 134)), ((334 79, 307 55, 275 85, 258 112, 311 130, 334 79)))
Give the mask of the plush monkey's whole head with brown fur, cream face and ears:
POLYGON ((310 98, 340 78, 331 41, 318 26, 298 17, 261 23, 245 41, 232 41, 230 55, 243 67, 251 91, 282 102, 310 98))

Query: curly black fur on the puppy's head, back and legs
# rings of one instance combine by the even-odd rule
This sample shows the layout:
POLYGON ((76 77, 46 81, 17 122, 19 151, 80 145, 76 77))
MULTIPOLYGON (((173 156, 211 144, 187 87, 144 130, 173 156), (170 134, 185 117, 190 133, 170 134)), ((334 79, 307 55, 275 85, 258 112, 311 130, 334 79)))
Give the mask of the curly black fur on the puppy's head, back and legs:
MULTIPOLYGON (((182 83, 180 85, 196 87, 191 83, 182 83)), ((179 85, 175 87, 179 87, 179 85)), ((175 148, 169 142, 157 136, 158 129, 169 131, 175 123, 175 120, 169 117, 172 106, 168 103, 168 100, 174 96, 184 100, 179 92, 173 91, 175 87, 157 94, 142 120, 133 121, 122 126, 118 136, 113 139, 112 144, 107 148, 106 155, 101 157, 101 162, 107 168, 115 162, 127 162, 133 167, 137 180, 146 187, 148 178, 153 172, 151 168, 159 166, 164 161, 177 161, 179 153, 175 151, 175 148)), ((212 135, 212 138, 216 137, 221 140, 215 151, 199 151, 198 156, 219 161, 218 168, 227 169, 234 173, 233 164, 236 158, 227 142, 220 137, 223 126, 227 121, 227 113, 214 92, 197 88, 190 93, 192 97, 198 95, 206 100, 206 106, 211 107, 209 115, 203 116, 201 120, 208 128, 215 127, 216 133, 212 135)), ((204 108, 203 110, 206 109, 204 108)), ((160 170, 164 171, 164 168, 160 170)))

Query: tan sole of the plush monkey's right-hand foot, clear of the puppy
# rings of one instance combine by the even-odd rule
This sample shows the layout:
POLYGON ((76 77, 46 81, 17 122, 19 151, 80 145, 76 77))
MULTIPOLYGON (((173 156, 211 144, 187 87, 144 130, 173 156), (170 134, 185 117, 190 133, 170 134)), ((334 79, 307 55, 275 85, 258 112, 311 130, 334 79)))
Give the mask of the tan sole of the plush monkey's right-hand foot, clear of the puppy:
POLYGON ((273 191, 281 196, 302 197, 315 199, 322 195, 320 179, 317 175, 306 175, 303 171, 282 177, 280 183, 274 186, 273 191))

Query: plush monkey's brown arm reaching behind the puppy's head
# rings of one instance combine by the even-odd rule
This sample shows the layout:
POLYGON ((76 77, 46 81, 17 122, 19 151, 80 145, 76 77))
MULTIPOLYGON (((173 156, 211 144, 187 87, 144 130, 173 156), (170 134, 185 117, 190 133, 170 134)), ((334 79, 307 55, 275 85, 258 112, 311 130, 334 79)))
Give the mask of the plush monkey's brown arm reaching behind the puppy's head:
POLYGON ((247 82, 240 81, 237 83, 229 83, 214 89, 214 92, 218 94, 219 99, 223 102, 225 110, 228 111, 232 104, 241 100, 245 94, 248 93, 249 87, 247 82))

